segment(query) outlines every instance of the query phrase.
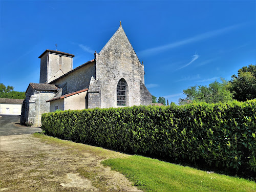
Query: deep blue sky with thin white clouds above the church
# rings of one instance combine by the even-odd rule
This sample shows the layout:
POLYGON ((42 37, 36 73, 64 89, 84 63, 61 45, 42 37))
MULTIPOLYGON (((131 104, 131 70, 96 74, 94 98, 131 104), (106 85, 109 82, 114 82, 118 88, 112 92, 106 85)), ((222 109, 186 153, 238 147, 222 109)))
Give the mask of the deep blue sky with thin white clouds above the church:
POLYGON ((256 1, 0 1, 0 82, 39 82, 46 49, 94 58, 119 27, 154 96, 178 103, 189 86, 230 80, 256 65, 256 1))

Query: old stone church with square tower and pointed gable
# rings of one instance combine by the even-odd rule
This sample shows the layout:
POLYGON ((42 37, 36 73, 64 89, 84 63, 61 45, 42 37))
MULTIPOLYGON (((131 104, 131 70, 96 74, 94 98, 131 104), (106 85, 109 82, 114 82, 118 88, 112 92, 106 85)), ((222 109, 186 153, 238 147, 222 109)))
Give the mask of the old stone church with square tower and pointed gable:
POLYGON ((40 81, 30 83, 20 122, 41 124, 55 110, 151 105, 140 63, 121 26, 94 59, 73 69, 75 55, 46 50, 39 58, 40 81))

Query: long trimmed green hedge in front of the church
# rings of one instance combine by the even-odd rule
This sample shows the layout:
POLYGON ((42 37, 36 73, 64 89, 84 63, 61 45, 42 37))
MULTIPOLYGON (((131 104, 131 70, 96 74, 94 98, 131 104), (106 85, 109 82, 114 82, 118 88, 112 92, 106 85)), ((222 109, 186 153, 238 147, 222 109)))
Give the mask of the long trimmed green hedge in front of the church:
POLYGON ((256 101, 61 111, 46 134, 113 150, 256 172, 256 101))

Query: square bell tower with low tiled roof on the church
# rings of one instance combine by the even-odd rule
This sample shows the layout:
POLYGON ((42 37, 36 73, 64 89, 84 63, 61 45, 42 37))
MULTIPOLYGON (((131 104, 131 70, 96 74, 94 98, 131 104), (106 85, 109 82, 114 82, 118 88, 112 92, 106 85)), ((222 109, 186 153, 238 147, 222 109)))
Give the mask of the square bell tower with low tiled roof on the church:
POLYGON ((41 59, 39 83, 48 84, 71 71, 73 69, 74 56, 70 53, 47 49, 38 57, 41 59))

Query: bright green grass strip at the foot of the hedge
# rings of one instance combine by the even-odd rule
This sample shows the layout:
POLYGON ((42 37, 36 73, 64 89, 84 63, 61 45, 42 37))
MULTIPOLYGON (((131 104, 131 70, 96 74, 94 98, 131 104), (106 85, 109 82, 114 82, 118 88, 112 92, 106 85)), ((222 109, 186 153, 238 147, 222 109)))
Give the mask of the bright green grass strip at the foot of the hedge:
POLYGON ((103 165, 124 174, 143 191, 256 191, 246 179, 180 166, 142 156, 108 159, 103 165))

